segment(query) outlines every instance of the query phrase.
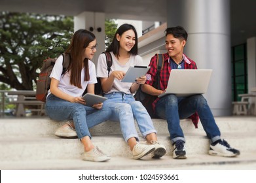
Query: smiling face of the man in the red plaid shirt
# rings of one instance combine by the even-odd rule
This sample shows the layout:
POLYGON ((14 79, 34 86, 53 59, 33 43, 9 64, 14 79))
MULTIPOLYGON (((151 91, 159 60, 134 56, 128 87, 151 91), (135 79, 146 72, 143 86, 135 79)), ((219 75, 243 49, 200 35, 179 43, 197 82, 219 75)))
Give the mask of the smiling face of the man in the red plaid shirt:
POLYGON ((172 34, 166 35, 166 50, 171 58, 182 56, 185 44, 185 39, 177 39, 172 34))

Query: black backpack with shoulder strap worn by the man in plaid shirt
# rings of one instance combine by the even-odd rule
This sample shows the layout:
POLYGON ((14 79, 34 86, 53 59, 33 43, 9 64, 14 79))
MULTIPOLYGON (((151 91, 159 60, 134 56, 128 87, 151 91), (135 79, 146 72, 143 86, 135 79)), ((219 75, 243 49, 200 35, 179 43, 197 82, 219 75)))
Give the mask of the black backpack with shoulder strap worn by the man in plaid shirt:
MULTIPOLYGON (((160 90, 160 72, 162 70, 162 67, 164 66, 164 56, 163 54, 156 54, 157 60, 156 60, 156 81, 153 83, 153 87, 160 90)), ((139 86, 139 89, 137 90, 136 94, 134 95, 134 98, 136 101, 140 101, 142 105, 147 109, 147 112, 149 112, 149 116, 151 118, 158 118, 153 112, 153 102, 155 101, 157 96, 149 95, 147 93, 142 92, 141 86, 139 86)))

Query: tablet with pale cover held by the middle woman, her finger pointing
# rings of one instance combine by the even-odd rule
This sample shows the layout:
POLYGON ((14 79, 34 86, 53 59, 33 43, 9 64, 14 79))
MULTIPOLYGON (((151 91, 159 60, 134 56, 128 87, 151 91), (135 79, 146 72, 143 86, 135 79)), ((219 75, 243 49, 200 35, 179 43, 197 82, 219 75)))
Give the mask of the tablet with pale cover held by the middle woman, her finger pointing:
POLYGON ((124 75, 124 78, 122 78, 121 82, 136 82, 136 78, 145 76, 147 71, 149 71, 149 68, 149 66, 131 66, 124 75))

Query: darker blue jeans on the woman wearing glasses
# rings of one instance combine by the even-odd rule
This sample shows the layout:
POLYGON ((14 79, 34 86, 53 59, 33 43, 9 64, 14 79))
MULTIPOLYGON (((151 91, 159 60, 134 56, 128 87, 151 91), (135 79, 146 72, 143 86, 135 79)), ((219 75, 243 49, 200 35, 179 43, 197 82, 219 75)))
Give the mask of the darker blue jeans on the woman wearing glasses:
POLYGON ((80 103, 71 103, 52 94, 47 97, 45 108, 46 114, 52 120, 73 120, 79 139, 85 136, 91 139, 88 128, 109 120, 111 116, 110 108, 96 109, 80 103))

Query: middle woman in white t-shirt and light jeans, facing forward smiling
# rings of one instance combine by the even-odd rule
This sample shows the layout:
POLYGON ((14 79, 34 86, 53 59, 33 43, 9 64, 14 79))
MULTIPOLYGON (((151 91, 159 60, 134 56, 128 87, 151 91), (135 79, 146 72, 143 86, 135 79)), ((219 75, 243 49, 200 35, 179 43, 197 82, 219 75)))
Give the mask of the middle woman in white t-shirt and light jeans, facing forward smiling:
POLYGON ((135 101, 132 93, 145 84, 146 77, 137 78, 134 83, 121 82, 128 68, 143 65, 142 58, 137 55, 137 32, 133 25, 123 24, 115 33, 111 45, 106 50, 111 53, 113 65, 108 74, 104 54, 98 59, 97 76, 100 77, 104 96, 108 99, 103 103, 113 111, 110 120, 120 122, 124 140, 128 142, 133 158, 139 159, 151 153, 152 158, 160 158, 166 154, 166 148, 157 142, 156 130, 147 110, 139 101, 135 101), (141 134, 147 142, 139 143, 134 118, 141 134))

